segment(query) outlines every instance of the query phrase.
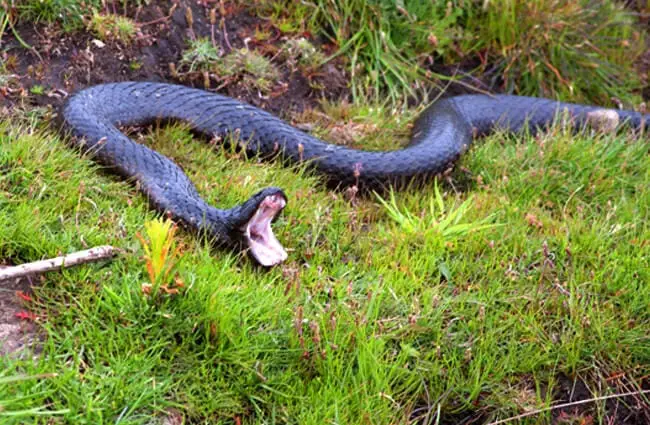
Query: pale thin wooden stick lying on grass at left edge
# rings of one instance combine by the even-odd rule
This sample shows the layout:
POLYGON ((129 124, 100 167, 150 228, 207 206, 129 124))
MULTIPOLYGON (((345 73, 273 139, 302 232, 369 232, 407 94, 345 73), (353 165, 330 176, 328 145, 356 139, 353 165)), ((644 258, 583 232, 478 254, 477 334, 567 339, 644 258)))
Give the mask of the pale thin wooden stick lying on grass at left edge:
POLYGON ((84 251, 73 252, 61 257, 50 258, 49 260, 34 261, 33 263, 7 267, 6 269, 0 269, 0 282, 3 280, 17 279, 32 274, 45 273, 52 270, 77 266, 79 264, 109 259, 117 255, 117 252, 117 248, 110 245, 103 245, 84 251))

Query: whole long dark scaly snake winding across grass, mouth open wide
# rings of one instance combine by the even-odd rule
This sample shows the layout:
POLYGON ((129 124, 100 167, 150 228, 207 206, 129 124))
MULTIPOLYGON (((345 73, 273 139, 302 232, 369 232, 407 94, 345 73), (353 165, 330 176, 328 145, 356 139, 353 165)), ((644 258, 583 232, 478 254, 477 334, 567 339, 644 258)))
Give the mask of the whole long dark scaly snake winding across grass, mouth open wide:
POLYGON ((536 132, 560 113, 574 128, 605 123, 646 127, 640 112, 514 95, 465 94, 441 98, 415 120, 409 143, 391 151, 365 151, 322 141, 263 109, 214 92, 154 82, 91 86, 65 102, 62 118, 72 144, 98 164, 135 182, 152 208, 216 245, 251 254, 266 267, 287 259, 271 224, 287 205, 286 193, 268 187, 245 202, 209 205, 183 170, 168 157, 127 137, 119 128, 157 120, 182 121, 211 140, 237 140, 246 154, 282 156, 308 163, 342 187, 376 187, 431 178, 448 170, 477 137, 500 128, 536 132), (228 138, 228 136, 234 136, 228 138))

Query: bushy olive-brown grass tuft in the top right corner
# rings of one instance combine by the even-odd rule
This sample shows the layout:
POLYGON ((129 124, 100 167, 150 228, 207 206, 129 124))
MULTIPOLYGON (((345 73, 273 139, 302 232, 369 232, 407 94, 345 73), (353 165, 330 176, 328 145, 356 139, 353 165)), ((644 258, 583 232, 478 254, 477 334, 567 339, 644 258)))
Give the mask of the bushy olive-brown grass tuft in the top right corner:
POLYGON ((640 87, 644 33, 615 2, 498 0, 464 26, 461 50, 482 52, 506 92, 608 105, 640 87))

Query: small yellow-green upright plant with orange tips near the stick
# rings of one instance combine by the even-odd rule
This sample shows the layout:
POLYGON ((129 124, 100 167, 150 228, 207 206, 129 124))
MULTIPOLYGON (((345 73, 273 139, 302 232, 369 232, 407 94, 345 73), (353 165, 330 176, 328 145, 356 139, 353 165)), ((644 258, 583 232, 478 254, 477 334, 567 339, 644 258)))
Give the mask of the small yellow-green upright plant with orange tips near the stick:
POLYGON ((177 293, 178 287, 182 286, 179 280, 172 282, 181 255, 174 238, 177 226, 169 219, 158 218, 146 222, 144 229, 146 238, 140 233, 136 234, 145 252, 145 267, 149 277, 149 283, 142 287, 143 292, 153 298, 160 290, 167 294, 177 293))

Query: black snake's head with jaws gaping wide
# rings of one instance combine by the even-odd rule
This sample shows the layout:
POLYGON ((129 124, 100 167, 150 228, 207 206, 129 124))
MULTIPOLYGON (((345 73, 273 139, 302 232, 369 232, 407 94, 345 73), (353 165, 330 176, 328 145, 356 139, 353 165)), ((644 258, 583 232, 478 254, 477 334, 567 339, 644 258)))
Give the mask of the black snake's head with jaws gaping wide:
POLYGON ((244 248, 265 267, 275 266, 287 259, 287 252, 271 228, 271 223, 286 205, 284 192, 271 187, 230 210, 235 221, 233 228, 239 232, 244 248))

